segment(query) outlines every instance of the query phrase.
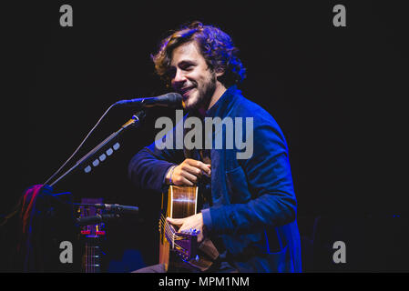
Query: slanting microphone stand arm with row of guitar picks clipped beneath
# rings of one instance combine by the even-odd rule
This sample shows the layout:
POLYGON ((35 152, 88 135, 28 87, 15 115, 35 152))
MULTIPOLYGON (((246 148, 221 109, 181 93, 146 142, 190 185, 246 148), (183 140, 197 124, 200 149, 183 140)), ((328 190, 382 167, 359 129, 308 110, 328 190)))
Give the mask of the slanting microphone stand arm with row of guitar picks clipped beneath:
MULTIPOLYGON (((143 120, 145 118, 145 112, 144 111, 139 111, 138 113, 136 113, 135 115, 133 115, 127 123, 125 123, 124 125, 122 125, 118 131, 112 133, 111 135, 107 136, 106 139, 104 139, 99 145, 97 145, 96 147, 94 147, 91 151, 89 151, 87 153, 86 156, 83 156, 82 158, 80 158, 75 166, 72 166, 70 169, 68 169, 66 171, 66 173, 64 173, 63 175, 59 176, 56 181, 54 181, 53 183, 50 184, 50 186, 55 186, 56 183, 58 181, 60 181, 63 177, 65 177, 66 175, 68 175, 69 173, 71 173, 73 170, 75 170, 77 167, 84 167, 84 170, 86 173, 89 173, 91 171, 91 166, 85 166, 87 165, 86 163, 93 157, 97 156, 97 154, 104 148, 107 148, 107 146, 111 145, 116 138, 118 138, 118 135, 121 134, 125 129, 129 128, 129 127, 138 127, 140 125, 140 121, 143 120)), ((116 148, 116 145, 114 145, 114 149, 118 149, 118 147, 116 148)), ((118 145, 119 146, 119 145, 118 145)), ((112 149, 111 149, 112 150, 112 149)), ((112 154, 112 152, 110 152, 110 154, 108 154, 109 152, 107 151, 107 155, 110 156, 112 154)), ((105 156, 105 154, 101 155, 101 156, 105 156)), ((99 156, 99 160, 102 162, 103 160, 105 160, 105 157, 102 159, 101 156, 99 156)), ((96 159, 94 160, 94 162, 92 163, 93 166, 98 166, 99 165, 99 161, 96 159)))

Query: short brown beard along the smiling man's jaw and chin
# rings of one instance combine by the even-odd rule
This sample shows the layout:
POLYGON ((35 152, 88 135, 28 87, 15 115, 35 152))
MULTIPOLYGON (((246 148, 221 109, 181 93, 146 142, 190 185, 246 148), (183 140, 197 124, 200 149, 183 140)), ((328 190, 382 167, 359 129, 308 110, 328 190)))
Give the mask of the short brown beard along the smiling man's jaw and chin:
POLYGON ((216 75, 211 72, 210 78, 201 84, 196 84, 195 96, 189 96, 188 102, 185 102, 185 108, 188 110, 207 110, 210 105, 211 97, 216 90, 216 75))

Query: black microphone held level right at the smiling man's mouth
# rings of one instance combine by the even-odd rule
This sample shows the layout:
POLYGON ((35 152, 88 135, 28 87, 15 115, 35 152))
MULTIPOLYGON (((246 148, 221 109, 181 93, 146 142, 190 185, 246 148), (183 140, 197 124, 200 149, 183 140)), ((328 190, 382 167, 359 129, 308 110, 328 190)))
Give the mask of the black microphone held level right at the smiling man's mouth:
POLYGON ((159 95, 150 98, 136 98, 129 100, 121 100, 114 104, 114 106, 120 107, 170 107, 170 108, 181 108, 182 107, 182 96, 178 93, 168 93, 164 95, 159 95))

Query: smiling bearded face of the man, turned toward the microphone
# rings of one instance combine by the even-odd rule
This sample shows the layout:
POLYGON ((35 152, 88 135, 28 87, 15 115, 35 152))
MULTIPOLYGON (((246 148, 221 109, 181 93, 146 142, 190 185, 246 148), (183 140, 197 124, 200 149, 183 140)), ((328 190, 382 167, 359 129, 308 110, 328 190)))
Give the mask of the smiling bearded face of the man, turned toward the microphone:
POLYGON ((217 80, 222 73, 210 69, 194 41, 173 50, 170 74, 171 85, 188 110, 209 109, 226 90, 217 80))

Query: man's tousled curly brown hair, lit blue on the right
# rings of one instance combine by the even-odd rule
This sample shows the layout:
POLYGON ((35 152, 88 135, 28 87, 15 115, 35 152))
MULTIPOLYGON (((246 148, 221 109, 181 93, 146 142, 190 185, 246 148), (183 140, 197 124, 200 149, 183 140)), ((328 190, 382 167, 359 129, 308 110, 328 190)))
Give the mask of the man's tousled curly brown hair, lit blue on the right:
POLYGON ((218 27, 195 21, 163 39, 158 53, 151 55, 157 74, 167 85, 170 85, 169 66, 173 50, 191 41, 196 41, 210 70, 224 72, 219 77, 221 84, 226 87, 240 84, 246 77, 246 69, 238 57, 239 49, 233 45, 230 35, 218 27))

